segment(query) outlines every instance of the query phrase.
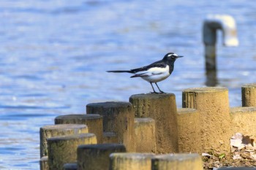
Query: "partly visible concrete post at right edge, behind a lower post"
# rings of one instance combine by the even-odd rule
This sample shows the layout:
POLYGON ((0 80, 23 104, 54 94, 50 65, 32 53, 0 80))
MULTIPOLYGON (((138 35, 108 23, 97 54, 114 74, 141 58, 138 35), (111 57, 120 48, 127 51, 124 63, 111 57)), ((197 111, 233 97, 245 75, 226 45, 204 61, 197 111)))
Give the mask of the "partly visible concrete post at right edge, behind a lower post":
POLYGON ((256 107, 256 83, 243 85, 241 93, 243 107, 256 107))

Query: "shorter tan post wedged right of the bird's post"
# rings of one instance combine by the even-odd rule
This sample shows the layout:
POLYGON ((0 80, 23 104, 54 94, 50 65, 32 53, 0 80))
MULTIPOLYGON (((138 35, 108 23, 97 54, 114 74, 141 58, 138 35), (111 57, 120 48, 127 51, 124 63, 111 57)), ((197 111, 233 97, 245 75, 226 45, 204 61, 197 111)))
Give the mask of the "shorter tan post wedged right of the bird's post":
POLYGON ((197 109, 179 108, 178 113, 178 151, 201 151, 200 121, 197 109))

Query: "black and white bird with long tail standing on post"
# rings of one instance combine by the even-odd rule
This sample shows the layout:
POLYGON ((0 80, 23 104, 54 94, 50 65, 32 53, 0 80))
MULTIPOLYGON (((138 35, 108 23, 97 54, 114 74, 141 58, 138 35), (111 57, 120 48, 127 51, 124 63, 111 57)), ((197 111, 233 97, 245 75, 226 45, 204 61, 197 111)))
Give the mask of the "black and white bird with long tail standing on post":
MULTIPOLYGON (((146 80, 151 84, 151 87, 153 88, 154 93, 157 93, 154 90, 154 87, 152 83, 155 83, 157 85, 157 82, 160 82, 162 80, 165 80, 167 77, 172 74, 174 69, 174 62, 177 58, 181 58, 183 56, 177 55, 176 53, 167 53, 164 58, 160 61, 156 61, 154 63, 149 64, 148 66, 143 66, 138 69, 130 69, 130 70, 113 70, 113 71, 107 71, 107 72, 113 72, 113 73, 132 73, 135 74, 133 77, 141 77, 143 80, 146 80)), ((157 88, 160 93, 164 93, 157 85, 157 88)))

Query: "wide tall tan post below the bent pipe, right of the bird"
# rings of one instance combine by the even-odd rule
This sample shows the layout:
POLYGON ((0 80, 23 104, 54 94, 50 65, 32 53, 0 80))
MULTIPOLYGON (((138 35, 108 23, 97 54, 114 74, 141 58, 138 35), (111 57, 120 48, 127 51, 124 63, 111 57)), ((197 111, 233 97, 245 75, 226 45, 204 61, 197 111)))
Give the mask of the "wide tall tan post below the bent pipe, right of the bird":
POLYGON ((182 101, 183 107, 199 112, 201 151, 229 153, 232 131, 227 88, 188 88, 182 101))

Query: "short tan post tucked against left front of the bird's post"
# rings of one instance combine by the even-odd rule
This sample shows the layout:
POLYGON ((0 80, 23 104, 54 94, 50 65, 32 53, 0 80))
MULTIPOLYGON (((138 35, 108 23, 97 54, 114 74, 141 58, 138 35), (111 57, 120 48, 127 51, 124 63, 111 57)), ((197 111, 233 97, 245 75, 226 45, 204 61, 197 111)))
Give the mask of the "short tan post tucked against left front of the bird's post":
POLYGON ((157 152, 155 121, 151 118, 135 118, 136 152, 157 152))

